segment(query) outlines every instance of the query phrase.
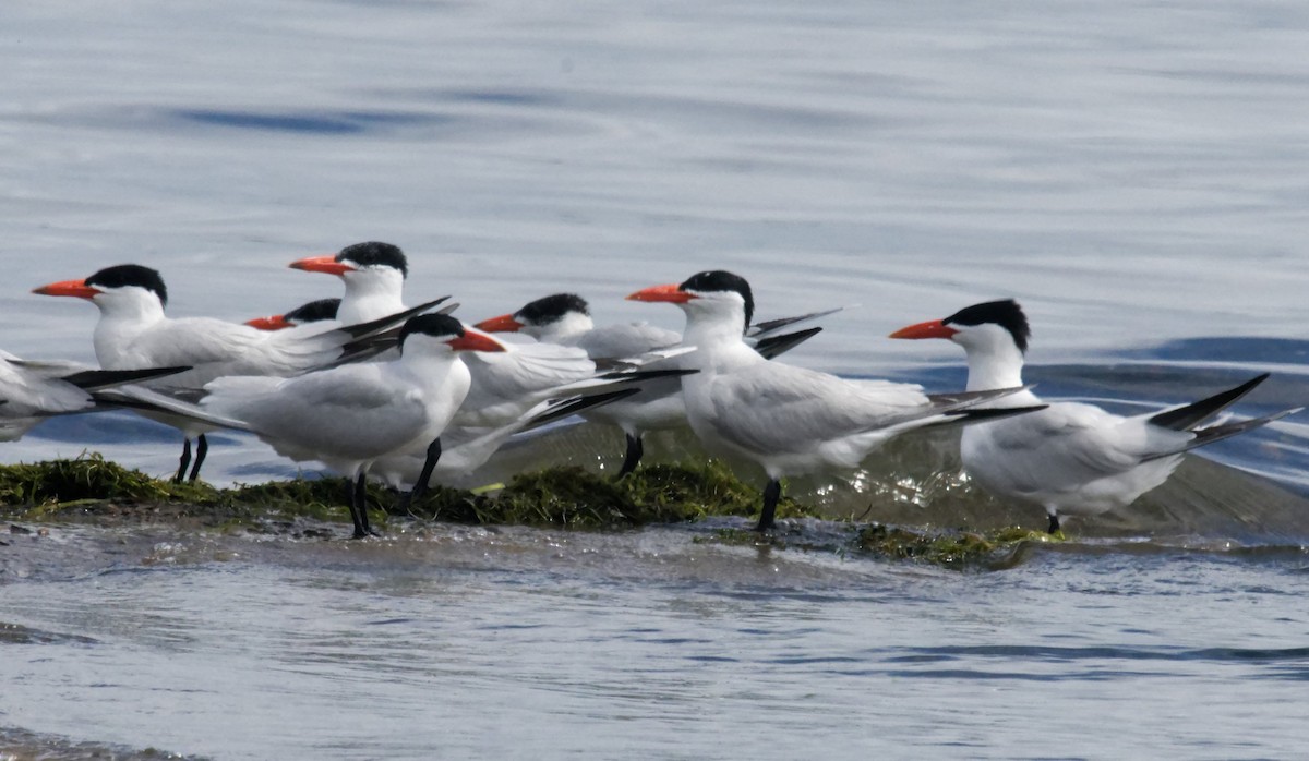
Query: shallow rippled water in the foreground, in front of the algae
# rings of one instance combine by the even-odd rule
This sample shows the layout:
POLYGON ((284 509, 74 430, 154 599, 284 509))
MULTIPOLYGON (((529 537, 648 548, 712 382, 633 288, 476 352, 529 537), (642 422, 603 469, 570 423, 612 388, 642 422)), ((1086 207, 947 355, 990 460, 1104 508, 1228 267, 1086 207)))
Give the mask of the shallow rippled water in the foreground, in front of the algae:
POLYGON ((707 532, 60 530, 101 570, 37 557, 5 588, 26 628, 0 645, 5 722, 226 758, 1304 745, 1300 550, 1092 545, 974 575, 707 532))

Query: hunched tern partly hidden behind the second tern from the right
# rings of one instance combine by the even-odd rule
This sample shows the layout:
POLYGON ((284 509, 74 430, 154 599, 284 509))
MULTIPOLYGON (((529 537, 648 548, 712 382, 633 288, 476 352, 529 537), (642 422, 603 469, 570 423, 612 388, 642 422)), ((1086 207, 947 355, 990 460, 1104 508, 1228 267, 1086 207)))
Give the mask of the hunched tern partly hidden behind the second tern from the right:
MULTIPOLYGON (((833 310, 835 311, 835 310, 833 310)), ((831 314, 810 314, 772 320, 766 326, 751 326, 749 343, 764 357, 772 358, 817 335, 822 328, 775 336, 783 327, 831 314), (767 336, 767 337, 763 337, 767 336)), ((590 316, 586 299, 575 293, 556 293, 526 303, 512 314, 482 320, 476 327, 488 332, 522 332, 537 341, 576 347, 597 362, 636 357, 658 349, 682 344, 675 331, 647 323, 607 324, 597 327, 590 316)), ((685 360, 672 357, 654 367, 686 367, 685 360)), ((631 399, 614 401, 583 414, 586 420, 615 425, 627 439, 627 452, 618 471, 622 479, 636 469, 645 451, 644 435, 654 430, 685 428, 686 404, 682 401, 679 378, 664 378, 641 384, 641 392, 631 399)))

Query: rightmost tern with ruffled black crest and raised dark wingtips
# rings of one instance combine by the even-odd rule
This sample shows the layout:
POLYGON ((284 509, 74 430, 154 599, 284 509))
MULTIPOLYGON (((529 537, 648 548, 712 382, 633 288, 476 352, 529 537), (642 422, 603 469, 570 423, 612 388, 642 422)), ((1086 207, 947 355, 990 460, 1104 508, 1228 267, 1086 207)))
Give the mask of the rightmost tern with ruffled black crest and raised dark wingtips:
MULTIPOLYGON (((912 324, 893 339, 948 339, 967 352, 969 391, 1022 386, 1022 361, 1031 331, 1012 299, 979 303, 953 315, 912 324)), ((1001 498, 1045 507, 1050 533, 1060 515, 1098 515, 1123 507, 1158 486, 1182 452, 1253 430, 1296 412, 1198 428, 1268 375, 1165 412, 1123 417, 1092 404, 1051 403, 1018 417, 971 425, 959 448, 963 468, 1001 498)), ((988 408, 1041 404, 1029 390, 988 408)))

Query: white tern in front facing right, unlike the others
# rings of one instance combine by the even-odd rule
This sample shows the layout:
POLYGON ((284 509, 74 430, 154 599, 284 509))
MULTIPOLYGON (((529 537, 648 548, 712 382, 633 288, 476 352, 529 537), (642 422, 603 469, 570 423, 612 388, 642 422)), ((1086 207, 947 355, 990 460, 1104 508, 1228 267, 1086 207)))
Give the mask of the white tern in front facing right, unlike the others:
POLYGON ((411 318, 399 358, 317 370, 295 378, 229 377, 208 383, 203 409, 245 424, 279 454, 318 460, 351 479, 355 539, 372 535, 364 482, 373 463, 425 452, 414 492, 421 493, 441 456, 441 433, 469 392, 456 352, 503 352, 486 333, 449 315, 411 318))

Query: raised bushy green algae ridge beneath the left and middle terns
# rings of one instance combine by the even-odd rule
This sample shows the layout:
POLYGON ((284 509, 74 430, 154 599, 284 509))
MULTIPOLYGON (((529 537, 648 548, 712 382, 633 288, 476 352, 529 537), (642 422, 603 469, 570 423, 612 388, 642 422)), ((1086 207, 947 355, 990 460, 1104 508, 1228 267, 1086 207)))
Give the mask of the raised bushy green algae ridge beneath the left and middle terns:
MULTIPOLYGON (((71 460, 0 465, 0 505, 38 519, 106 505, 185 503, 241 519, 259 514, 346 520, 350 481, 296 479, 215 489, 204 482, 173 484, 124 468, 98 454, 71 460)), ((492 490, 435 486, 412 503, 369 484, 372 511, 473 524, 617 528, 696 520, 707 515, 753 515, 762 497, 719 463, 651 465, 620 481, 577 467, 521 473, 492 490)), ((781 518, 813 515, 793 499, 781 518)))

